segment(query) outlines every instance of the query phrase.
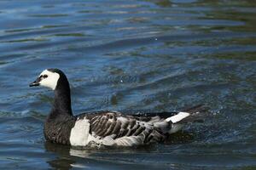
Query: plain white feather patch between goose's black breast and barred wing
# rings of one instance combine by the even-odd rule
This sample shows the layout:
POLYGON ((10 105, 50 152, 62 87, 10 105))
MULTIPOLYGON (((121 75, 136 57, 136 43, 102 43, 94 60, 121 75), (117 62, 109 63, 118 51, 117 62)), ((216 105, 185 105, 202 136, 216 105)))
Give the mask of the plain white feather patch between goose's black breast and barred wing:
POLYGON ((90 142, 90 123, 88 119, 78 120, 70 133, 70 144, 73 146, 85 146, 90 142))

